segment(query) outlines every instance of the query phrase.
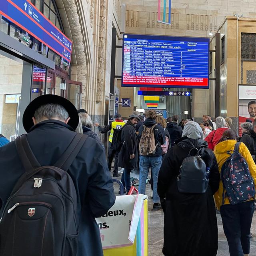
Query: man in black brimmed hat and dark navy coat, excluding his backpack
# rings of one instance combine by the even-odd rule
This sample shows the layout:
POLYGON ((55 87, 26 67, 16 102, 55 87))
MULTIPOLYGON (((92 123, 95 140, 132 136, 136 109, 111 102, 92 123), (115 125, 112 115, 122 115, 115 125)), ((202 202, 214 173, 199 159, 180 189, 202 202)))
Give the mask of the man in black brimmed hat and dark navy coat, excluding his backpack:
MULTIPOLYGON (((30 148, 41 166, 53 166, 66 152, 76 136, 74 130, 78 120, 74 105, 60 96, 43 95, 27 106, 23 115, 23 126, 28 132, 26 137, 30 148)), ((68 168, 78 199, 77 205, 74 206, 79 220, 77 256, 103 256, 100 232, 94 218, 105 214, 115 202, 112 178, 104 155, 102 146, 88 137, 68 168)), ((26 170, 18 156, 15 142, 0 148, 0 156, 1 213, 16 182, 26 170)), ((19 207, 16 209, 19 211, 19 207)), ((19 212, 16 214, 18 216, 19 212)), ((30 212, 28 216, 31 216, 29 214, 30 212)), ((36 227, 35 236, 39 232, 36 227)), ((55 236, 57 238, 58 234, 55 236)), ((22 252, 22 248, 20 251, 22 252)), ((34 255, 39 254, 35 252, 34 255)))

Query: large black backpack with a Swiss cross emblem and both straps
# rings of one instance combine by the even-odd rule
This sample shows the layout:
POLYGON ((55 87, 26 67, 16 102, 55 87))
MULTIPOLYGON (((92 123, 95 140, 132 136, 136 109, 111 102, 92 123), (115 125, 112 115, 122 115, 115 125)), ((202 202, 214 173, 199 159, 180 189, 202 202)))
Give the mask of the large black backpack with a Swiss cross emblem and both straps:
POLYGON ((2 212, 1 256, 76 256, 77 196, 66 171, 87 137, 76 134, 54 166, 39 164, 26 134, 15 140, 26 172, 2 212))

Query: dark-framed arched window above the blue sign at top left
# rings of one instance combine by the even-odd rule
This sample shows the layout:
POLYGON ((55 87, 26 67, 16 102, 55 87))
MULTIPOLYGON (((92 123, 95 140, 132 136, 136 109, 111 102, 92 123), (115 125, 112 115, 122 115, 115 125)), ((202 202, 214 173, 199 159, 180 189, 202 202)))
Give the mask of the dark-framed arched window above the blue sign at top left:
POLYGON ((57 28, 64 32, 60 14, 54 0, 32 0, 36 6, 57 28))

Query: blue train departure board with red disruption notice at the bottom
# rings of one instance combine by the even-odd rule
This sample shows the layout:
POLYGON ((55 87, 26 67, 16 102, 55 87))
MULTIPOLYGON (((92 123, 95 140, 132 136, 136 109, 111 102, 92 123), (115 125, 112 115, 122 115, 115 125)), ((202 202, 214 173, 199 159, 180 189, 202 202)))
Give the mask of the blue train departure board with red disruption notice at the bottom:
POLYGON ((122 86, 209 88, 209 42, 124 34, 122 86))

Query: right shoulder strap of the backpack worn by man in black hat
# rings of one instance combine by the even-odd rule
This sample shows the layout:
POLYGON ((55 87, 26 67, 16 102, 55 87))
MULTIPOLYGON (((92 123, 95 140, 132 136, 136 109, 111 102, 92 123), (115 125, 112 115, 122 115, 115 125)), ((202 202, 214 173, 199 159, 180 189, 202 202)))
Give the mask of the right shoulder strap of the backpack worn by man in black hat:
POLYGON ((77 154, 79 153, 80 149, 84 145, 84 142, 87 138, 87 135, 77 133, 74 136, 73 140, 70 142, 68 148, 53 166, 67 171, 68 168, 70 168, 74 159, 76 158, 77 154))

